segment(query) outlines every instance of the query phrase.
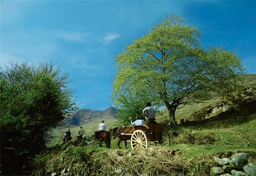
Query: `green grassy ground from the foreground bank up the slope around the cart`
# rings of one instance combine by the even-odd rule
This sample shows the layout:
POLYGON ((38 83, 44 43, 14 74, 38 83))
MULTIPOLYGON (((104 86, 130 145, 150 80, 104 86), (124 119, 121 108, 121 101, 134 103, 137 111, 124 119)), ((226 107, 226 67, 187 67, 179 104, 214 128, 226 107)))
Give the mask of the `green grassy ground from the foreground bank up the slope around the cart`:
MULTIPOLYGON (((255 86, 256 75, 245 77, 245 82, 255 86)), ((118 149, 118 139, 111 140, 110 149, 105 144, 101 148, 98 141, 64 145, 63 132, 68 128, 55 128, 51 131, 55 138, 48 143, 54 147, 34 158, 32 175, 210 175, 211 167, 216 166, 213 156, 230 157, 238 152, 248 153, 249 162, 256 162, 255 102, 205 118, 205 111, 218 104, 220 98, 180 106, 176 111, 178 125, 166 129, 171 146, 165 140, 147 149, 131 150, 130 142, 125 149, 122 141, 122 149, 118 149), (185 123, 179 125, 180 119, 185 123)), ((168 122, 167 114, 164 109, 156 117, 158 123, 168 122)), ((106 125, 108 129, 119 126, 116 120, 108 120, 106 125)), ((82 127, 89 138, 98 123, 82 127)), ((78 131, 79 127, 71 128, 72 137, 78 131)))

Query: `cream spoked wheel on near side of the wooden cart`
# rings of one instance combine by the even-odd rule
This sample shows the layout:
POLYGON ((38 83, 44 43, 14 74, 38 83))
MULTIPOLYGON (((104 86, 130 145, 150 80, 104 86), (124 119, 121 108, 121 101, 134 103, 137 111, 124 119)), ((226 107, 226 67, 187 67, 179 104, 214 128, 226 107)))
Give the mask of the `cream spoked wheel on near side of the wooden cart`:
POLYGON ((141 129, 137 129, 131 135, 131 149, 143 148, 147 148, 147 136, 141 129))

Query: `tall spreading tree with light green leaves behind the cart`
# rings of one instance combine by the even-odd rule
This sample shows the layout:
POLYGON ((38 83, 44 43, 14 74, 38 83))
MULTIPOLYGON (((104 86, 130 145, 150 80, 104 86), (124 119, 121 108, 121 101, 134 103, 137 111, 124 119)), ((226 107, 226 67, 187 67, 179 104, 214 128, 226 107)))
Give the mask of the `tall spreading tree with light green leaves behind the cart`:
POLYGON ((203 100, 232 87, 242 74, 241 60, 223 47, 202 48, 201 31, 179 16, 165 20, 136 39, 115 58, 113 102, 129 94, 166 106, 170 122, 182 103, 203 100))

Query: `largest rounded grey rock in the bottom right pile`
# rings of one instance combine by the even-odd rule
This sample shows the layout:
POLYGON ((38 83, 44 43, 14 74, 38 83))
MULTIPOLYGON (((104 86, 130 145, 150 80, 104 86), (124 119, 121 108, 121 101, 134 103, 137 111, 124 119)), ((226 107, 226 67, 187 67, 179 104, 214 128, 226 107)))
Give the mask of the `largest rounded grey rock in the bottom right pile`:
POLYGON ((242 169, 248 163, 249 155, 247 153, 236 153, 232 154, 230 158, 229 164, 234 169, 242 169))

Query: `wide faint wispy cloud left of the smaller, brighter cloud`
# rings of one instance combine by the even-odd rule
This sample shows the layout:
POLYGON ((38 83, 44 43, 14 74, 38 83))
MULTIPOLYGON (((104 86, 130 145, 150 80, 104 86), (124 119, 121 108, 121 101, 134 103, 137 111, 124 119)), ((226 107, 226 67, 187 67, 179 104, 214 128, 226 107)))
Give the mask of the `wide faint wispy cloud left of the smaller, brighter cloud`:
POLYGON ((60 31, 57 33, 57 36, 69 41, 82 41, 85 37, 89 36, 89 33, 78 31, 60 31))

